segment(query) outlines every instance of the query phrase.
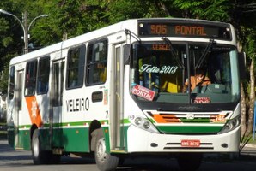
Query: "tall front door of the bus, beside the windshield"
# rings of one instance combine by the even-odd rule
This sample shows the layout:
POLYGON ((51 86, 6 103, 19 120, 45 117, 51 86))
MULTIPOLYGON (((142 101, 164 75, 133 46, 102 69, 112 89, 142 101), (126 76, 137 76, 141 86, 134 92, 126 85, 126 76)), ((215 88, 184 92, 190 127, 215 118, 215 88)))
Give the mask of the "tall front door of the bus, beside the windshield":
POLYGON ((114 46, 113 58, 113 112, 111 115, 112 150, 124 150, 124 62, 122 57, 123 44, 114 46))

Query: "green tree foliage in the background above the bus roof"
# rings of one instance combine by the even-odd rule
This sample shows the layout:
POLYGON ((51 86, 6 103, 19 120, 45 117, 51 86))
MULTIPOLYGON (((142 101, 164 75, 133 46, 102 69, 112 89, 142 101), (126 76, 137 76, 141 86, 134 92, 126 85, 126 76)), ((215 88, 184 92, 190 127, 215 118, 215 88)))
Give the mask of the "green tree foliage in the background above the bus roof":
MULTIPOLYGON (((253 0, 8 0, 0 9, 22 20, 27 11, 28 23, 34 21, 29 43, 36 48, 54 44, 85 32, 131 18, 187 17, 229 21, 237 27, 247 56, 255 57, 256 11, 253 0)), ((0 91, 7 90, 9 60, 20 55, 24 46, 20 23, 10 15, 0 14, 0 91)))

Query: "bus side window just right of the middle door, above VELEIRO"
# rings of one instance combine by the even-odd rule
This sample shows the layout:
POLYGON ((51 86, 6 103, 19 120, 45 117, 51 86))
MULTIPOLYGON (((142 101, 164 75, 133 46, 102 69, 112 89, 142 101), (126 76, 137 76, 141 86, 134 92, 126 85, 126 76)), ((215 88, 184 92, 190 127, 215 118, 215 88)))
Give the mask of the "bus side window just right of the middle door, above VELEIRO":
POLYGON ((82 44, 68 53, 67 88, 82 87, 85 61, 85 45, 82 44))

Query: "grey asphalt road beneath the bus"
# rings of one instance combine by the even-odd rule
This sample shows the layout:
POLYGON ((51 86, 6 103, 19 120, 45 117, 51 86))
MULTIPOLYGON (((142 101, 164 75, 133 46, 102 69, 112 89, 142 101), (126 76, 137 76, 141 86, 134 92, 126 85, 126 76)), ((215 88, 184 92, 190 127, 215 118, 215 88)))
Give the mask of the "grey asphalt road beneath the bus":
MULTIPOLYGON (((12 150, 6 141, 0 140, 0 170, 1 171, 97 171, 94 159, 63 157, 57 165, 34 165, 30 151, 12 150)), ((125 160, 120 171, 179 171, 177 162, 166 157, 137 157, 125 160)), ((198 171, 251 171, 256 170, 256 148, 245 148, 239 158, 231 156, 205 156, 198 171)))

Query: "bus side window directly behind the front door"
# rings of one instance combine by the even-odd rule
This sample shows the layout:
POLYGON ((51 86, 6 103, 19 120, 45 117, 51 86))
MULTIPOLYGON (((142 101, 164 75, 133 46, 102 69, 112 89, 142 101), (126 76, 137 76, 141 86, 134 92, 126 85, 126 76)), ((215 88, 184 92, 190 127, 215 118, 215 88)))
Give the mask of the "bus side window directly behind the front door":
POLYGON ((88 45, 88 85, 103 84, 107 79, 107 39, 88 45))

